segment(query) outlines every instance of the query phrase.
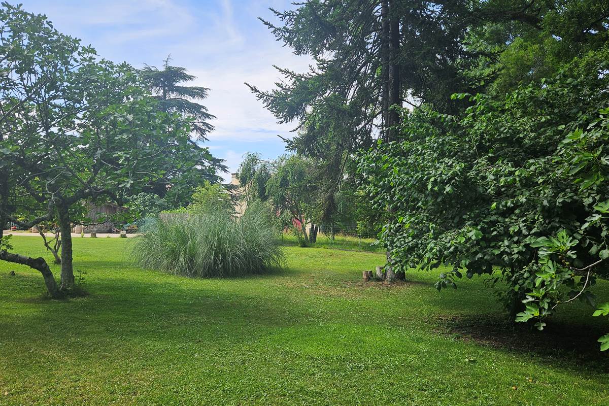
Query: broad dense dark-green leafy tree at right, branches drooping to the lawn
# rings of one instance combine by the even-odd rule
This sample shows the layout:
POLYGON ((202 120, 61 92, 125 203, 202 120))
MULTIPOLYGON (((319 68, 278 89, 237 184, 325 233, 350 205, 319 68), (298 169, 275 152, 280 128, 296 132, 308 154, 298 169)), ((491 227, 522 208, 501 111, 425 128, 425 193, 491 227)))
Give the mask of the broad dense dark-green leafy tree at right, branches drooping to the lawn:
POLYGON ((438 289, 498 270, 512 317, 538 329, 560 304, 592 304, 609 276, 608 57, 502 99, 457 94, 474 103, 461 115, 404 112, 401 139, 360 161, 372 207, 396 214, 381 234, 390 264, 447 265, 438 289))

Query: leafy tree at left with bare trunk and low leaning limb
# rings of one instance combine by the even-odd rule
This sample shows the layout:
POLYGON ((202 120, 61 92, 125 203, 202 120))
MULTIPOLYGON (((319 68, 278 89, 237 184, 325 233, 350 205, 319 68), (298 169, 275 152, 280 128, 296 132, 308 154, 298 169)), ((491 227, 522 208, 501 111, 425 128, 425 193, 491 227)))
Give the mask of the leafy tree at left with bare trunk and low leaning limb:
POLYGON ((213 157, 192 142, 189 119, 158 108, 131 66, 96 61, 20 6, 3 3, 0 21, 0 228, 56 219, 61 287, 44 260, 6 250, 2 259, 40 270, 57 296, 74 288, 71 223, 83 201, 122 205, 153 185, 173 189, 185 175, 214 173, 213 157))

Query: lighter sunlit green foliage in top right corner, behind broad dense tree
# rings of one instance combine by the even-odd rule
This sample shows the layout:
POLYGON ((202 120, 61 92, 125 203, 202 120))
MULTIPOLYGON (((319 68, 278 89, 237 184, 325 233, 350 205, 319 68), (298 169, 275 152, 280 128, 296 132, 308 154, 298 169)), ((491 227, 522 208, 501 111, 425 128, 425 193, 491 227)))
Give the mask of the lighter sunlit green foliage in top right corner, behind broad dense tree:
MULTIPOLYGON (((490 2, 489 12, 501 4, 507 2, 490 2)), ((533 1, 515 11, 528 13, 529 23, 490 19, 465 40, 481 53, 473 72, 485 77, 487 94, 502 96, 520 84, 553 77, 565 61, 599 49, 609 39, 605 1, 533 1)))

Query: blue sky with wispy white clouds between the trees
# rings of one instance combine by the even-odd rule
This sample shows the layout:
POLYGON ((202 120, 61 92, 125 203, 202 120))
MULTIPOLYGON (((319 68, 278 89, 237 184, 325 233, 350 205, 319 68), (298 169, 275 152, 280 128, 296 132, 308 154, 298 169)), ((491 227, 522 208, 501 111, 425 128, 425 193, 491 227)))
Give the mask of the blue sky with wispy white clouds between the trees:
MULTIPOLYGON (((203 104, 217 117, 209 135, 214 155, 231 171, 245 152, 264 158, 284 153, 277 135, 289 137, 292 124, 276 124, 243 84, 270 89, 280 75, 272 65, 305 71, 307 57, 292 54, 257 19, 273 19, 269 7, 288 9, 284 0, 20 0, 43 13, 60 32, 91 44, 104 58, 141 67, 172 63, 197 76, 194 85, 211 88, 203 104)), ((225 179, 230 175, 223 174, 225 179)))

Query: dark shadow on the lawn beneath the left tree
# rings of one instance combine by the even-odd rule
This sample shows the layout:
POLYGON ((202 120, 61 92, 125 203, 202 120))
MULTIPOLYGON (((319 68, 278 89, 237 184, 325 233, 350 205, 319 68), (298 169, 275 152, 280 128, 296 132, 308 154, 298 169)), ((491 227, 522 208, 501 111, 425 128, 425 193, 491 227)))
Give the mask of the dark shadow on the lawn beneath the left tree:
MULTIPOLYGON (((19 285, 34 285, 38 279, 32 276, 17 276, 19 285)), ((2 332, 11 332, 24 338, 44 337, 45 340, 62 341, 66 326, 71 320, 83 325, 107 324, 121 331, 122 338, 171 337, 188 324, 231 325, 244 328, 244 333, 252 333, 261 327, 291 326, 309 317, 305 307, 299 307, 287 300, 273 298, 272 301, 257 301, 242 295, 242 292, 219 291, 203 285, 181 285, 180 276, 176 280, 130 281, 128 278, 108 278, 96 280, 88 286, 91 295, 86 298, 65 301, 29 298, 13 298, 15 303, 34 303, 38 311, 5 314, 0 320, 2 332)), ((79 331, 83 339, 95 340, 96 332, 88 329, 79 331)), ((244 334, 242 339, 248 338, 244 334)), ((231 340, 239 337, 231 337, 231 340)))

